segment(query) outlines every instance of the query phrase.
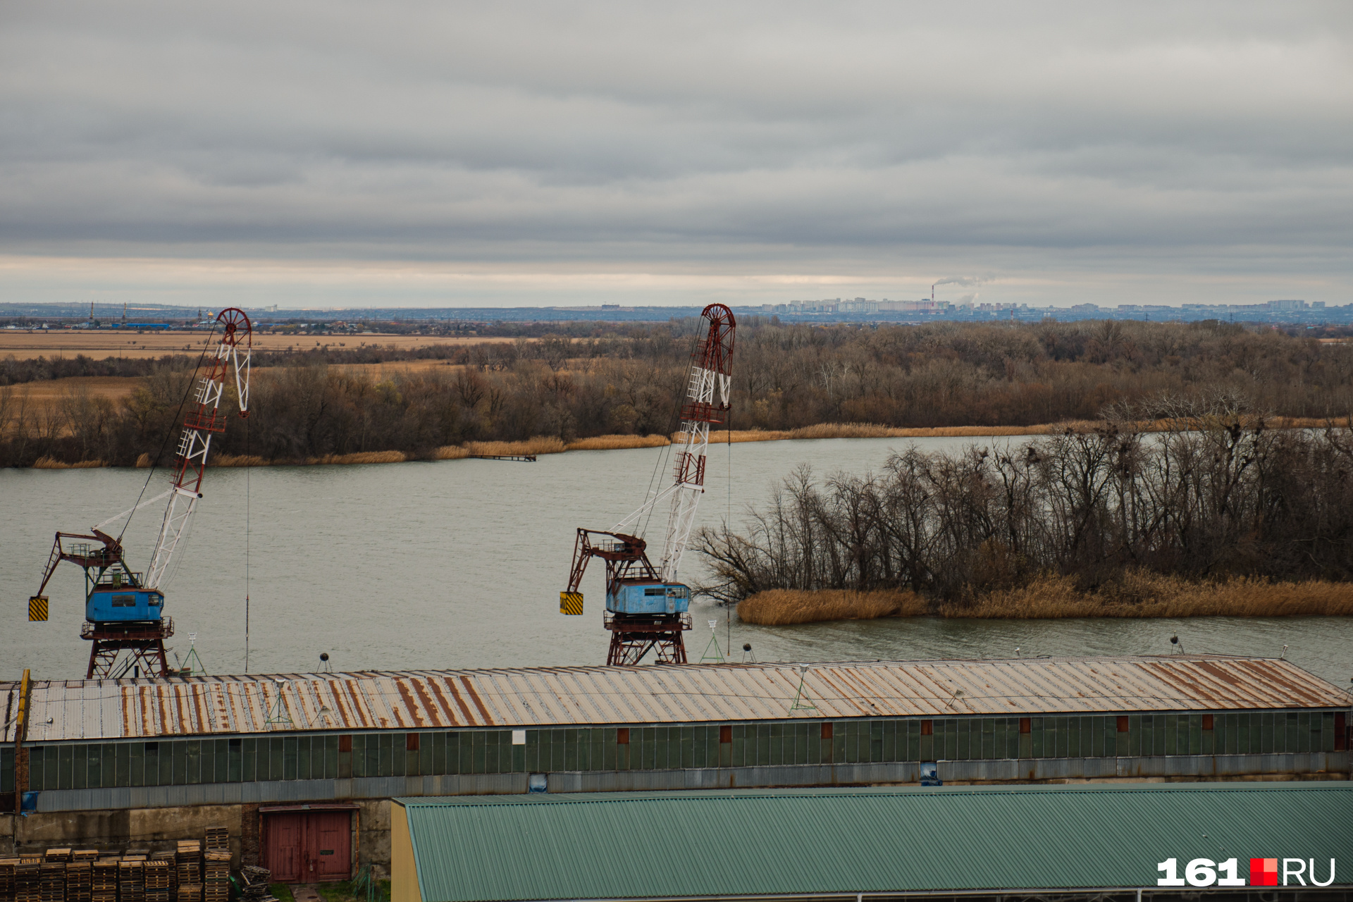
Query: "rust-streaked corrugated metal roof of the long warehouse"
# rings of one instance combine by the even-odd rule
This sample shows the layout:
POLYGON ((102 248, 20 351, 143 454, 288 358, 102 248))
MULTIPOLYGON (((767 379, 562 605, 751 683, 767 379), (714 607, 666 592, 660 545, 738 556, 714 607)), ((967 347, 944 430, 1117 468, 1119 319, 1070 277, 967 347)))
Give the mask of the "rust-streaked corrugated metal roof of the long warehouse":
MULTIPOLYGON (((28 740, 1349 705, 1292 663, 1256 657, 812 664, 802 682, 816 707, 793 710, 800 678, 793 664, 695 664, 38 680, 28 740), (269 723, 279 695, 290 725, 269 723)), ((0 683, 0 699, 15 688, 0 683)))

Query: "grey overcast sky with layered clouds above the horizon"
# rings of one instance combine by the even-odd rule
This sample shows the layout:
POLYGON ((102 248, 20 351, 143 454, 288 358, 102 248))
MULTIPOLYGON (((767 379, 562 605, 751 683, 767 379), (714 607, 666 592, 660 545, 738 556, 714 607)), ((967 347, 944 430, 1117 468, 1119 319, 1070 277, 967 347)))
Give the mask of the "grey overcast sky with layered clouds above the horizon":
POLYGON ((1348 3, 0 3, 4 302, 1342 304, 1350 245, 1348 3))

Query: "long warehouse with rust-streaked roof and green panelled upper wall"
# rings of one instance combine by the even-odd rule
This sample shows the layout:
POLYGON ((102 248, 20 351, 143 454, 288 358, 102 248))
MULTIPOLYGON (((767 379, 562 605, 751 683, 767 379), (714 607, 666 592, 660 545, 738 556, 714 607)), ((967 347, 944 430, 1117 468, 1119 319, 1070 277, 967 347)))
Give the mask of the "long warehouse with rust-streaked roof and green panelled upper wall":
POLYGON ((172 810, 341 879, 388 863, 396 797, 1348 779, 1349 701, 1289 661, 1183 655, 35 682, 0 799, 32 809, 18 849, 169 838, 172 810))

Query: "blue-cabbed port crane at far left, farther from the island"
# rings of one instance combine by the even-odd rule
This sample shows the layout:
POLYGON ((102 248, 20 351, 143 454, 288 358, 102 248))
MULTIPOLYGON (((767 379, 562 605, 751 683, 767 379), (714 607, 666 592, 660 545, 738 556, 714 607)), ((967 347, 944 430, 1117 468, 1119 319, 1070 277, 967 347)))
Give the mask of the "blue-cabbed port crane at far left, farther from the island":
POLYGON ((42 586, 38 587, 38 594, 28 599, 28 619, 46 621, 49 599, 43 591, 57 565, 61 561, 70 561, 84 568, 85 622, 80 627, 80 638, 93 642, 85 679, 116 679, 127 673, 172 675, 164 642, 173 636, 173 618, 164 615, 165 598, 160 586, 202 498, 202 477, 207 469, 211 437, 226 429, 226 412, 221 410, 221 399, 225 396, 231 371, 239 400, 239 415, 249 415, 249 356, 253 326, 249 316, 235 307, 221 311, 216 323, 222 326, 221 341, 215 357, 192 389, 195 403, 183 421, 169 488, 108 518, 88 534, 57 533, 47 565, 42 572, 42 586), (165 499, 168 504, 150 556, 150 567, 145 572, 133 571, 127 565, 122 536, 115 537, 111 525, 165 499), (129 655, 123 656, 123 652, 129 655))

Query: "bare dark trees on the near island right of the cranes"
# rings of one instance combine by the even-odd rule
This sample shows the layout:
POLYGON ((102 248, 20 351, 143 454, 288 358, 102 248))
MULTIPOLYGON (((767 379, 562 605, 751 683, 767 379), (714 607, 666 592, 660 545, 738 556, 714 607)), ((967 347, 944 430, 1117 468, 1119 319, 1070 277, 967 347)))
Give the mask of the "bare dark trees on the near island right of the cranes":
POLYGON ((1093 429, 908 449, 878 473, 819 480, 805 467, 741 529, 698 542, 713 572, 702 588, 723 602, 911 590, 962 607, 1049 576, 1122 590, 1134 571, 1344 581, 1353 429, 1269 429, 1234 396, 1119 404, 1093 429), (1170 427, 1143 433, 1143 421, 1170 427))

